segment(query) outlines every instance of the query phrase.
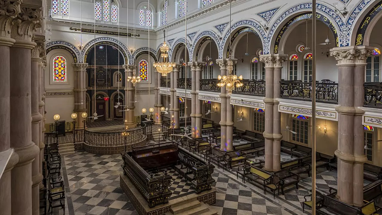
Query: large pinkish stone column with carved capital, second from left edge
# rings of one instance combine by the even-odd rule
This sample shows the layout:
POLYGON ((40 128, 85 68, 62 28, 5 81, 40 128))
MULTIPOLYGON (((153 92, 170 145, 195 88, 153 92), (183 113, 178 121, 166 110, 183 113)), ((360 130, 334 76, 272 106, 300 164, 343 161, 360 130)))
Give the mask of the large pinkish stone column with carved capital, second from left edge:
POLYGON ((11 172, 11 215, 32 215, 32 184, 36 184, 32 180, 32 161, 39 154, 39 147, 31 138, 31 49, 36 46, 32 34, 41 21, 40 7, 21 5, 11 31, 16 42, 10 49, 10 141, 19 155, 19 162, 11 172))

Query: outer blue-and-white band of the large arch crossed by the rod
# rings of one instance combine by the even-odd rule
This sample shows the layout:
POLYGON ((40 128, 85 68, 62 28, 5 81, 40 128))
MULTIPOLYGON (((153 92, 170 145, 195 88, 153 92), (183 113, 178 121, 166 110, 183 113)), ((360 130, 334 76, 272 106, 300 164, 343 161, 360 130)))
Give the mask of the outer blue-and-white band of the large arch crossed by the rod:
MULTIPOLYGON (((330 17, 330 21, 335 23, 335 27, 337 32, 340 32, 338 36, 338 44, 339 46, 349 46, 349 37, 347 36, 348 33, 350 33, 350 28, 346 27, 345 23, 343 22, 342 18, 337 15, 337 13, 332 9, 329 8, 326 5, 322 5, 320 3, 316 4, 317 11, 320 11, 320 14, 323 14, 327 17, 330 17)), ((270 53, 270 43, 274 43, 276 41, 277 35, 275 35, 275 31, 279 28, 281 28, 281 24, 283 21, 285 21, 286 17, 288 16, 294 16, 301 12, 309 12, 312 9, 312 3, 303 3, 299 5, 295 5, 288 10, 286 10, 282 15, 280 15, 275 23, 270 28, 270 31, 268 33, 267 41, 269 43, 267 46, 264 47, 264 54, 270 53)))

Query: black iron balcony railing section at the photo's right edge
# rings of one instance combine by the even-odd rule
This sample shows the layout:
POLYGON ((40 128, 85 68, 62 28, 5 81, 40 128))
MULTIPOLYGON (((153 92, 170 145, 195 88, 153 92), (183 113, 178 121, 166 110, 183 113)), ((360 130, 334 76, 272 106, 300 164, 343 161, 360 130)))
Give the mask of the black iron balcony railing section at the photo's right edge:
POLYGON ((371 108, 382 108, 382 83, 371 82, 364 84, 365 100, 364 106, 371 108))

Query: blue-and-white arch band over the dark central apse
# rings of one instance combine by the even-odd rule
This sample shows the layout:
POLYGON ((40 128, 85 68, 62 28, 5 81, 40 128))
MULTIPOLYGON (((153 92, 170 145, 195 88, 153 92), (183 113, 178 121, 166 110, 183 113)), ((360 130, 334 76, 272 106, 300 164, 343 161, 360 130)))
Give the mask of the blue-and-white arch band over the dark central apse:
POLYGON ((86 60, 87 53, 89 53, 89 50, 91 49, 92 46, 98 46, 98 45, 110 45, 114 46, 116 48, 120 49, 120 52, 122 53, 123 57, 125 58, 125 64, 129 64, 129 59, 131 59, 131 54, 129 52, 129 49, 125 46, 124 43, 118 41, 117 39, 114 39, 112 37, 97 37, 95 39, 92 39, 89 41, 84 48, 82 49, 81 52, 81 60, 79 61, 80 63, 83 63, 84 60, 86 60))

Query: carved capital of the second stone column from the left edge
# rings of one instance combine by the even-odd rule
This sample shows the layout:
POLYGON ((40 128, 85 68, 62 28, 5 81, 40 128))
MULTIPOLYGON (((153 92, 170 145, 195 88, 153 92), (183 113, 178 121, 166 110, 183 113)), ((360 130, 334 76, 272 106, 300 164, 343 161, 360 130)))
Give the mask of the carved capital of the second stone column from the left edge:
POLYGON ((40 8, 20 7, 20 13, 13 20, 11 37, 16 40, 32 41, 36 28, 40 27, 40 8))

